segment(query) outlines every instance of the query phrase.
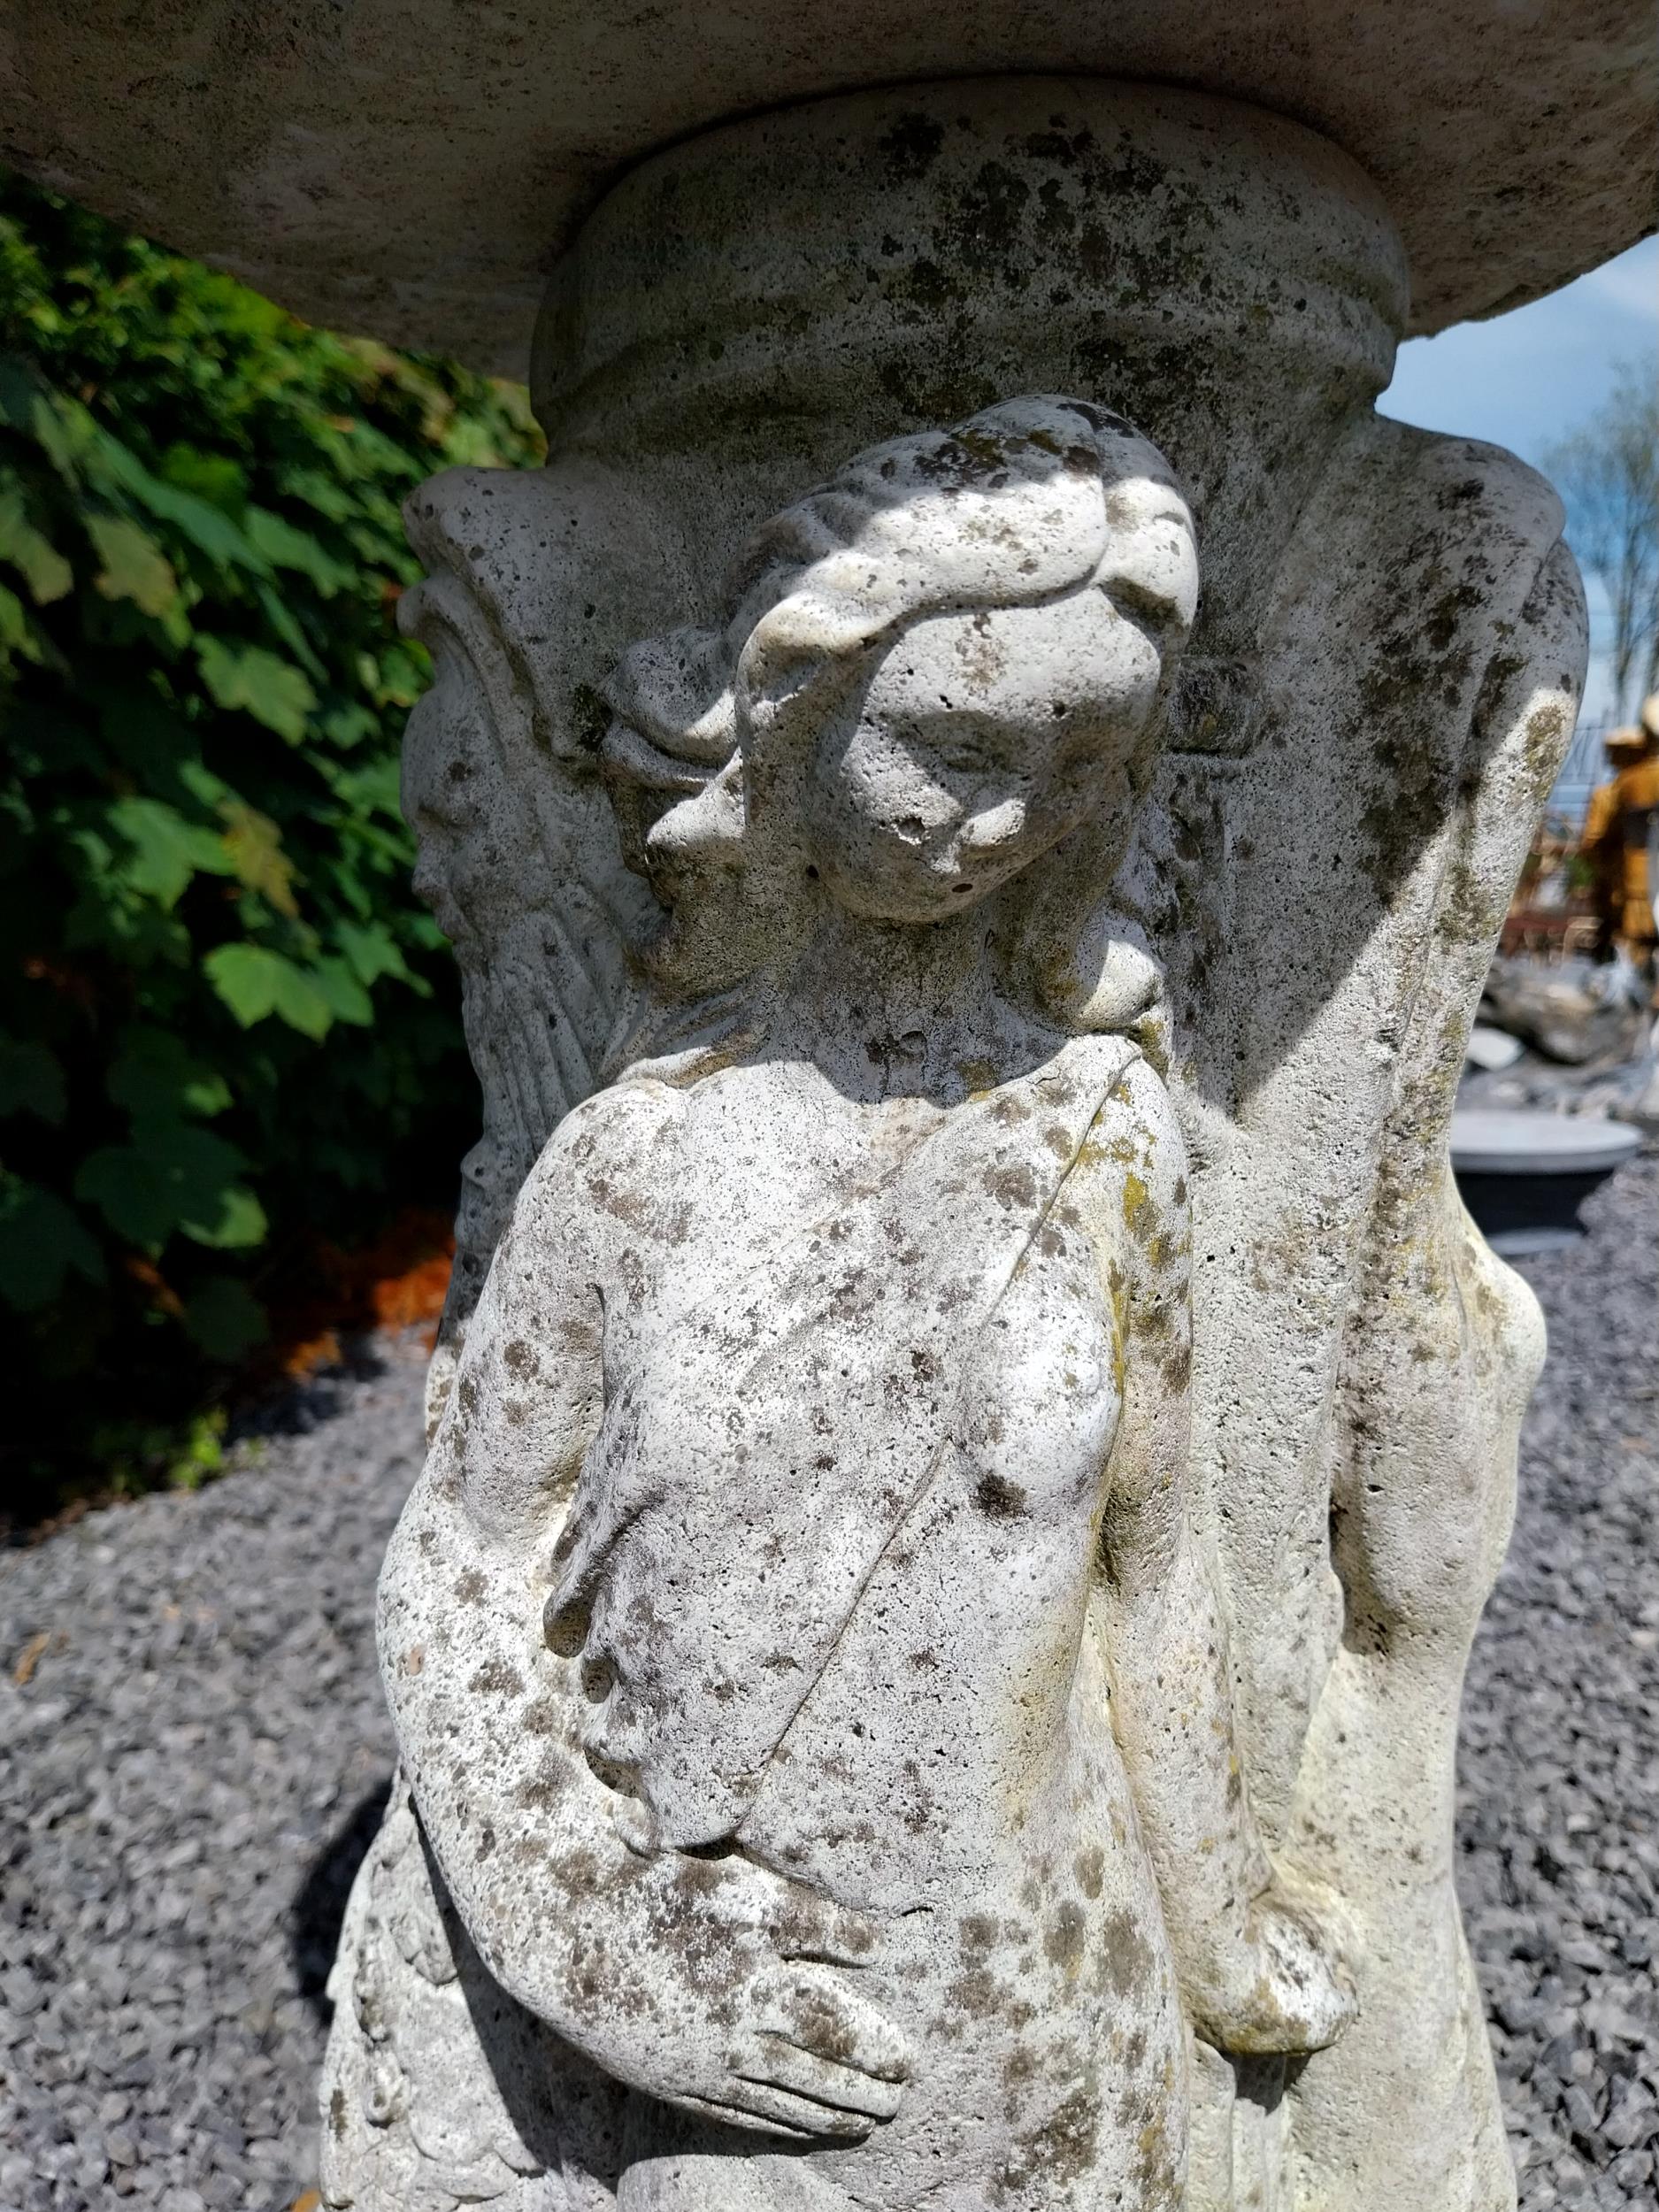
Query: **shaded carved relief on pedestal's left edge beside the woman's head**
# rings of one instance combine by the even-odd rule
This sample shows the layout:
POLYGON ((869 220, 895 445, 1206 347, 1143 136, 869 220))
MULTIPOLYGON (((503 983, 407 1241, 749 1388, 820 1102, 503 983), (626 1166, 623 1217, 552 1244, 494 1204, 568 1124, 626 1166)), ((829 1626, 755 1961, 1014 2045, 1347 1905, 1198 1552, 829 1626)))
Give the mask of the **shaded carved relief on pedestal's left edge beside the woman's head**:
POLYGON ((595 684, 670 584, 664 531, 597 469, 451 469, 405 520, 427 577, 400 622, 431 650, 434 684, 409 717, 403 807, 482 1091, 431 1422, 518 1188, 637 1009, 659 909, 624 867, 599 783, 595 684))

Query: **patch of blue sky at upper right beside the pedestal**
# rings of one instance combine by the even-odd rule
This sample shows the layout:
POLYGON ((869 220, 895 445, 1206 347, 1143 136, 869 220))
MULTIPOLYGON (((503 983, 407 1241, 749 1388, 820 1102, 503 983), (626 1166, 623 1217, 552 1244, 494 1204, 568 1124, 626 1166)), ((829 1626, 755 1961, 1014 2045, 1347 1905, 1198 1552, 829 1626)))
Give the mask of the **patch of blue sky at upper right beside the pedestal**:
MULTIPOLYGON (((1489 438, 1544 467, 1546 449, 1595 414, 1617 361, 1659 376, 1659 239, 1632 246, 1577 283, 1491 323, 1458 323, 1400 347, 1383 414, 1425 429, 1489 438)), ((1584 719, 1610 712, 1595 655, 1604 606, 1590 591, 1593 657, 1584 719)))

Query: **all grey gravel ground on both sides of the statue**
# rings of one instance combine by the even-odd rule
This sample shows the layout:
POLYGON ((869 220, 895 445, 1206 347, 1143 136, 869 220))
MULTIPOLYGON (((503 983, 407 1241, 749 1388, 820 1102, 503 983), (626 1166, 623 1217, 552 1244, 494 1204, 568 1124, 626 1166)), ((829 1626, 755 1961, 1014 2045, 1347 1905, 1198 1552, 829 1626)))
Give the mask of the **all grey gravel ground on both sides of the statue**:
MULTIPOLYGON (((1462 1891, 1524 2212, 1659 2199, 1659 1164, 1528 1263, 1553 1329, 1475 1650, 1462 1891)), ((385 1343, 197 1495, 0 1555, 0 2212, 285 2212, 392 1743, 369 1593, 418 1464, 385 1343)), ((1416 2208, 1413 2208, 1416 2212, 1416 2208)))

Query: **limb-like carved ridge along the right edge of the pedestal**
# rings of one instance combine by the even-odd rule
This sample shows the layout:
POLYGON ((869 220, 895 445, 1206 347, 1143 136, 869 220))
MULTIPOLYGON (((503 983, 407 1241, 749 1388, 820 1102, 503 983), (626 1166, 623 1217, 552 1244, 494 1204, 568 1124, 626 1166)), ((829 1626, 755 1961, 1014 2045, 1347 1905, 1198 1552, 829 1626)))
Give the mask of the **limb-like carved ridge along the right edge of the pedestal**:
POLYGON ((1504 1557, 1520 1420, 1544 1363, 1533 1292, 1464 1214, 1451 1115, 1511 889, 1573 734, 1586 637, 1584 586, 1557 542, 1469 737, 1438 951, 1400 1042, 1338 1380, 1332 1535, 1349 1635, 1383 1652, 1405 1630, 1413 1650, 1451 1655, 1451 1679, 1504 1557))

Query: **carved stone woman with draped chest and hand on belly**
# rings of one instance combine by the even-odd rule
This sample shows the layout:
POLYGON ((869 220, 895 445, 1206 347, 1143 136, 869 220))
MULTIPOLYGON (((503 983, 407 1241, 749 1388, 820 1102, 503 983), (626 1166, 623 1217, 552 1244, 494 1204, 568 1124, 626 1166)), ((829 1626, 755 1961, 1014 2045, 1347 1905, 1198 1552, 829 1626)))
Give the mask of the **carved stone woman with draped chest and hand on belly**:
POLYGON ((380 1639, 460 1924, 648 2093, 628 2212, 1172 2212, 1188 2028, 1347 2015, 1232 1752, 1152 971, 1066 891, 1194 597, 1161 456, 1018 400, 611 684, 655 1013, 524 1186, 380 1639))

